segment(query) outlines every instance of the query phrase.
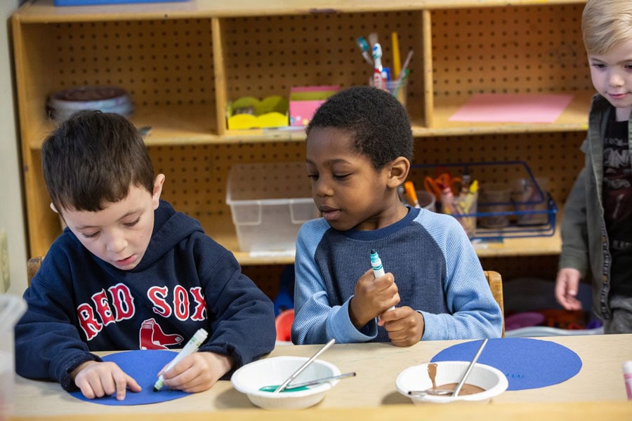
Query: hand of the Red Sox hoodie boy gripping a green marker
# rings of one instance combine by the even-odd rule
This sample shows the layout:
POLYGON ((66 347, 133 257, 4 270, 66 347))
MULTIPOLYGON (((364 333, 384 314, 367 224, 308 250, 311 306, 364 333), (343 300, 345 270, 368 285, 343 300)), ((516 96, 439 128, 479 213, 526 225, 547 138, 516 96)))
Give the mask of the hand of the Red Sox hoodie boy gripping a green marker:
MULTIPOLYGON (((211 389, 232 368, 230 356, 214 352, 194 352, 162 373, 164 386, 195 393, 211 389)), ((164 370, 164 368, 163 368, 164 370)))

